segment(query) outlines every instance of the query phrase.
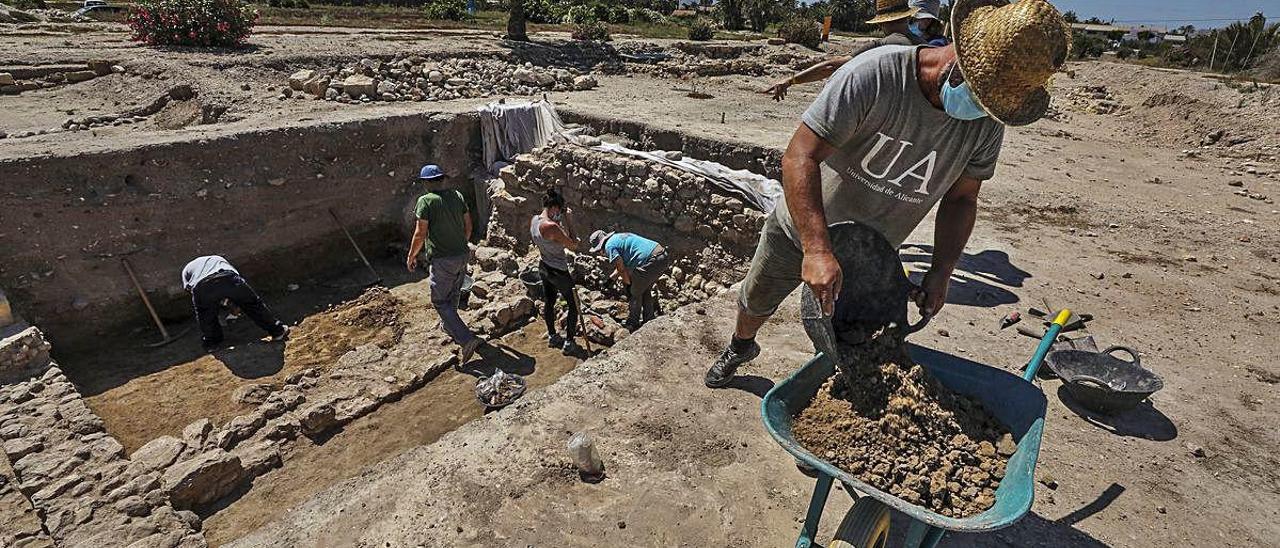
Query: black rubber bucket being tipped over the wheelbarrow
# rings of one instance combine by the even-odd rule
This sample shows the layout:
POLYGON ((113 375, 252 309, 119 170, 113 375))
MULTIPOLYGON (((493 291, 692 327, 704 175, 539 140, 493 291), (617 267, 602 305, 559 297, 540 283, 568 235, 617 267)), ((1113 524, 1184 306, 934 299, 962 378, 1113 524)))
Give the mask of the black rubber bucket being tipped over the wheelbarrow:
POLYGON ((915 324, 908 320, 915 286, 906 278, 897 250, 879 232, 858 222, 836 223, 827 232, 844 282, 829 316, 809 286, 801 291, 800 320, 814 350, 838 365, 837 342, 856 346, 888 335, 902 344, 906 335, 924 329, 928 316, 915 324))

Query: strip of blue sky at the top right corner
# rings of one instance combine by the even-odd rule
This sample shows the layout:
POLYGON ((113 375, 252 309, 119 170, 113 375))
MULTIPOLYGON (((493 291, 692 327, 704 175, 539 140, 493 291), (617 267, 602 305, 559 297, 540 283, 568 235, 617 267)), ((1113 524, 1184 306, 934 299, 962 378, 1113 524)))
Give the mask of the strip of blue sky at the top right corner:
POLYGON ((1117 23, 1151 23, 1169 27, 1193 24, 1197 28, 1221 27, 1248 19, 1262 12, 1280 20, 1280 0, 1051 0, 1062 12, 1073 10, 1080 19, 1115 18, 1117 23), (1194 19, 1194 20, 1193 20, 1194 19), (1212 20, 1225 19, 1225 20, 1212 20))

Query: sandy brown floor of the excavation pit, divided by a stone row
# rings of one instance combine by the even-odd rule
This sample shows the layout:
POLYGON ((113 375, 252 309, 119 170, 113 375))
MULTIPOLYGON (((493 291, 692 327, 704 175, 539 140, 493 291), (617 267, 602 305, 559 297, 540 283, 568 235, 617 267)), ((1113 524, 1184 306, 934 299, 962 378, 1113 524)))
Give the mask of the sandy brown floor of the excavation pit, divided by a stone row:
MULTIPOLYGON (((369 293, 374 298, 362 296, 366 291, 362 282, 370 277, 362 269, 305 283, 297 291, 264 294, 282 320, 296 325, 285 344, 257 341, 262 335, 257 328, 239 320, 228 328, 224 350, 204 355, 198 351, 193 321, 187 321, 170 328, 193 332, 161 348, 141 347, 138 342, 150 341, 151 333, 133 329, 129 334, 106 337, 111 343, 92 352, 70 352, 63 362, 108 431, 133 452, 160 435, 180 437, 193 420, 207 417, 220 425, 250 411, 253 406, 236 401, 237 388, 259 383, 278 385, 285 376, 308 367, 319 369, 321 375, 337 373, 338 359, 361 344, 390 348, 429 342, 435 343, 439 353, 451 352, 454 347, 443 343, 436 326, 439 316, 430 309, 422 274, 380 266, 389 292, 369 293), (369 318, 375 321, 367 321, 369 318), (388 326, 390 323, 398 326, 388 326)), ((284 453, 280 467, 201 512, 209 543, 234 540, 280 517, 293 504, 357 476, 367 466, 430 444, 483 416, 486 411, 474 394, 479 375, 502 369, 524 375, 529 389, 535 391, 581 362, 580 357, 548 348, 547 329, 540 320, 492 341, 477 355, 461 371, 445 370, 422 388, 338 431, 320 439, 300 437, 284 453)), ((424 355, 422 361, 433 357, 424 355)))

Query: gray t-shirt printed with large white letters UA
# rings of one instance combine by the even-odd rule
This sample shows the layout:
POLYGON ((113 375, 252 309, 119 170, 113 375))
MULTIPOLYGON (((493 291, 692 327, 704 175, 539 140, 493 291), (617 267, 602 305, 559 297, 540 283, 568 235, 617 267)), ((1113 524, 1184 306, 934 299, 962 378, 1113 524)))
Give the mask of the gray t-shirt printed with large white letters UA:
MULTIPOLYGON (((960 120, 934 108, 916 79, 916 50, 884 46, 854 58, 803 118, 836 149, 820 168, 827 223, 865 223, 895 247, 960 175, 989 179, 1005 137, 991 118, 960 120)), ((799 243, 785 198, 774 214, 799 243)))

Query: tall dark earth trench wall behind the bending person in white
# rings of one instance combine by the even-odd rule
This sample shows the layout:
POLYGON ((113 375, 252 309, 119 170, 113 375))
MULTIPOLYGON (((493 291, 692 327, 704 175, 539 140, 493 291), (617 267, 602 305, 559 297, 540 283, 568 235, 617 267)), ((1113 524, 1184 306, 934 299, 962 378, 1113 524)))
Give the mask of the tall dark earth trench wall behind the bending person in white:
MULTIPOLYGON (((163 316, 187 318, 187 260, 227 256, 273 289, 402 239, 424 163, 467 174, 477 118, 419 114, 127 150, 0 161, 0 287, 55 342, 146 321, 127 257, 163 316)), ((470 187, 470 186, 467 186, 470 187)))

